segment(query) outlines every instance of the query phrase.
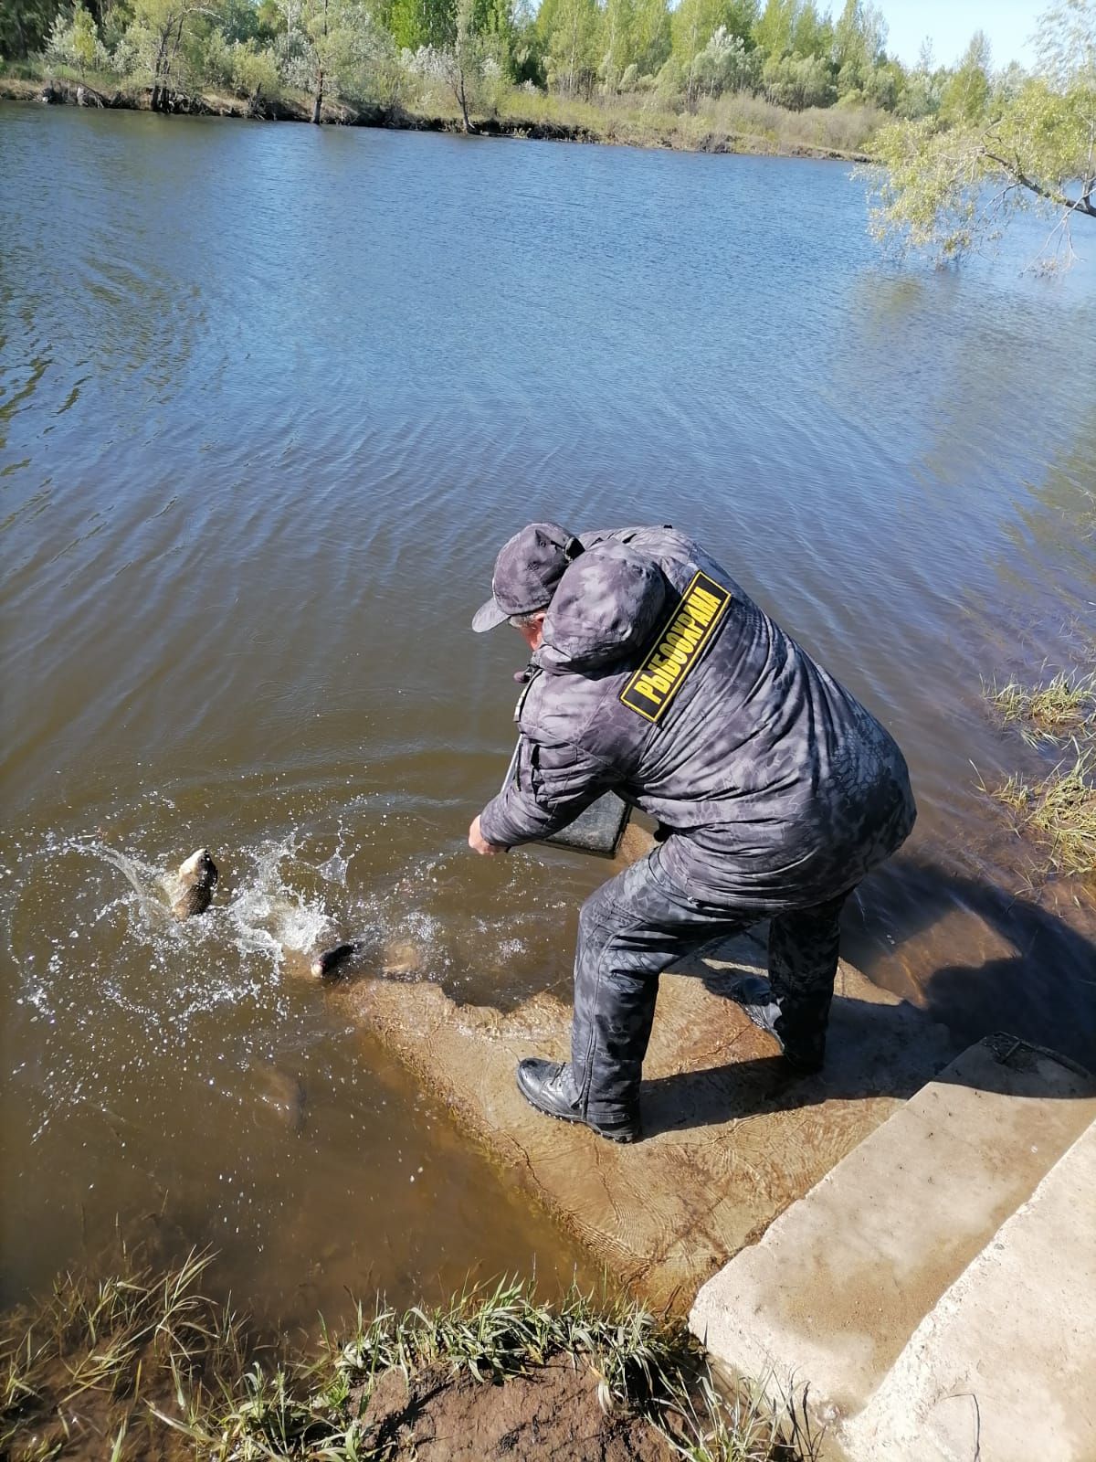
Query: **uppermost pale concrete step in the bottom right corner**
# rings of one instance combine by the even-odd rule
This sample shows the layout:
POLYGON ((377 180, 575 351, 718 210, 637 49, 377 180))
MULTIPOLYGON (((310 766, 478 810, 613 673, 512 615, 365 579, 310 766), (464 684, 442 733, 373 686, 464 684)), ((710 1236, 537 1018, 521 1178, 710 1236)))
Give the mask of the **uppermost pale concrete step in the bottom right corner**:
POLYGON ((1096 1459, 1096 1123, 925 1316, 845 1440, 880 1462, 1096 1459))

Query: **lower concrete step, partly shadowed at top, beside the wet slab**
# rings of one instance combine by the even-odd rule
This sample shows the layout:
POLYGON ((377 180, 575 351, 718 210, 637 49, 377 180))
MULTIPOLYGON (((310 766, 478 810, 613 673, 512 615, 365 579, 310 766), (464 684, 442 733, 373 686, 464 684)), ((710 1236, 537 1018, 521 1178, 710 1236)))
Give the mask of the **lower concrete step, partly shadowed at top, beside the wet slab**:
POLYGON ((734 1370, 810 1383, 821 1420, 858 1417, 1093 1120, 1080 1069, 1013 1037, 981 1041, 700 1289, 693 1330, 734 1370))

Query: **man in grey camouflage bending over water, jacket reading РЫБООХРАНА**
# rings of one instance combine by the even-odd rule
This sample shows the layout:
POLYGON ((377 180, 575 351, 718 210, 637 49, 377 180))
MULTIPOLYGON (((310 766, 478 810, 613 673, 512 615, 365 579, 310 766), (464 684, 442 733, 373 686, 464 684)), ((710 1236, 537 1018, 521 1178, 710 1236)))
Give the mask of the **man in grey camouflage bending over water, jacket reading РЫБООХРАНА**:
POLYGON ((530 523, 491 588, 472 627, 509 620, 532 661, 514 775, 469 845, 547 838, 609 788, 659 823, 652 852, 583 905, 571 1058, 522 1061, 525 1096, 637 1140, 659 974, 760 920, 769 980, 735 999, 791 1067, 818 1070, 842 905, 916 817, 891 737, 671 528, 530 523))

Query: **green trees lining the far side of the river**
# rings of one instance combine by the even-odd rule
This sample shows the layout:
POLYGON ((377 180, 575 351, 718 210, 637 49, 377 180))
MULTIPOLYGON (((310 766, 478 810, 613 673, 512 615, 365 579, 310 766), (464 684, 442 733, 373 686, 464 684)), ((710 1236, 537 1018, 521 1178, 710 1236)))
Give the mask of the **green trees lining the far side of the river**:
POLYGON ((187 89, 302 91, 316 120, 324 101, 405 104, 424 80, 452 88, 466 120, 514 86, 674 111, 748 94, 956 120, 1010 85, 981 32, 953 67, 928 42, 903 66, 867 0, 836 15, 817 0, 0 0, 0 58, 34 54, 149 86, 164 108, 187 89))

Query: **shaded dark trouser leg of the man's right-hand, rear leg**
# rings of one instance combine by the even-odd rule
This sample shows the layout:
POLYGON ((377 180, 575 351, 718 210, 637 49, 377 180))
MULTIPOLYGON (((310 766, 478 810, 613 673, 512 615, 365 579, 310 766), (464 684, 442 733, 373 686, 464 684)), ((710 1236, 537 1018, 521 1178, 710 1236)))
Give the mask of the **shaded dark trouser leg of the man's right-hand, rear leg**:
POLYGON ((776 1032, 785 1050, 804 1060, 821 1061, 826 1054, 840 912, 850 892, 776 914, 769 925, 769 982, 780 1006, 776 1032))

